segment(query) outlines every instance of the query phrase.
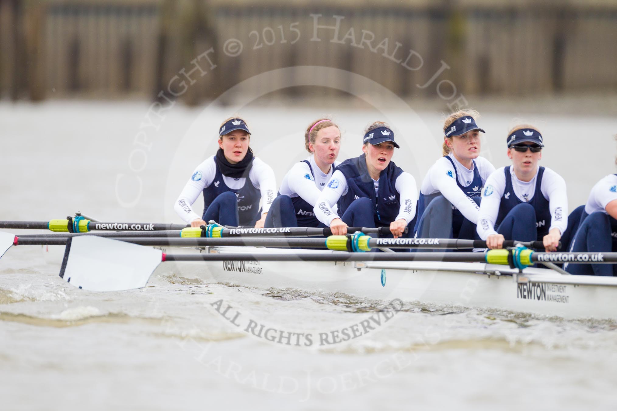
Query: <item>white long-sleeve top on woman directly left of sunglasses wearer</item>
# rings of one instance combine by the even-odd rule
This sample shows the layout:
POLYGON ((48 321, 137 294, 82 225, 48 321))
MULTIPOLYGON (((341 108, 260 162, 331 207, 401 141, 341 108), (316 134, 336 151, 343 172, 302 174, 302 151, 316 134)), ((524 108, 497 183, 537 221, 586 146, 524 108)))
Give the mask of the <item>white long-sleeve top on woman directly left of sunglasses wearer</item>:
MULTIPOLYGON (((429 168, 428 173, 426 173, 426 177, 424 177, 424 181, 420 187, 420 192, 423 193, 423 195, 441 192, 453 206, 460 210, 466 219, 475 224, 478 222, 480 208, 478 204, 476 204, 476 201, 473 201, 468 197, 467 193, 463 192, 463 190, 458 187, 457 181, 452 177, 457 176, 460 185, 466 187, 473 181, 474 169, 478 167, 478 173, 482 179, 482 186, 484 186, 486 179, 495 171, 495 167, 484 157, 476 158, 474 160, 475 166, 472 163, 471 169, 466 168, 458 162, 452 153, 447 157, 452 159, 454 166, 452 166, 452 163, 450 163, 447 158, 439 158, 439 160, 429 168)), ((476 190, 481 190, 482 186, 469 188, 470 190, 474 188, 476 190)))

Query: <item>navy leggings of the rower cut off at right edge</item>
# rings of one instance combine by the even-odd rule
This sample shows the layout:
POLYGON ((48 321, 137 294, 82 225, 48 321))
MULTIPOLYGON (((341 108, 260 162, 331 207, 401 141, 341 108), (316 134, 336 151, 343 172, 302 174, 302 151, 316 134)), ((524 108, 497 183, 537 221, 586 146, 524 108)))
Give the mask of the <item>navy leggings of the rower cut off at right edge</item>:
MULTIPOLYGON (((602 211, 583 214, 574 240, 570 245, 570 251, 578 253, 607 253, 617 251, 611 233, 617 226, 617 221, 602 211), (611 228, 611 226, 613 228, 611 228)), ((616 264, 564 264, 564 269, 570 274, 579 275, 617 275, 616 264)))

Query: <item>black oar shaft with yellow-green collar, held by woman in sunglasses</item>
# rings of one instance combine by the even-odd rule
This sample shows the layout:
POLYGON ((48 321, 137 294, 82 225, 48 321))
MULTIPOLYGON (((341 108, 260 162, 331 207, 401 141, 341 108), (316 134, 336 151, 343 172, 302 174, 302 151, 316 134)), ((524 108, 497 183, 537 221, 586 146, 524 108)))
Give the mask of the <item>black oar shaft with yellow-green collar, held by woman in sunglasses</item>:
MULTIPOLYGON (((276 247, 276 248, 328 248, 334 251, 371 251, 375 248, 442 248, 452 250, 462 250, 469 248, 486 248, 486 242, 479 240, 456 240, 449 238, 371 238, 368 235, 331 235, 327 238, 296 238, 296 237, 230 237, 230 238, 179 238, 179 237, 130 237, 128 233, 106 233, 96 237, 111 237, 112 240, 148 245, 148 246, 185 246, 185 247, 204 247, 204 246, 257 246, 257 247, 276 247), (118 236, 117 234, 123 234, 118 236), (354 246, 354 242, 357 244, 354 246)), ((92 235, 85 234, 90 237, 92 235)), ((78 235, 83 237, 83 234, 78 235)), ((72 237, 31 237, 17 236, 13 245, 65 245, 68 238, 72 237)), ((520 243, 513 241, 504 242, 507 246, 537 246, 542 242, 520 243)))

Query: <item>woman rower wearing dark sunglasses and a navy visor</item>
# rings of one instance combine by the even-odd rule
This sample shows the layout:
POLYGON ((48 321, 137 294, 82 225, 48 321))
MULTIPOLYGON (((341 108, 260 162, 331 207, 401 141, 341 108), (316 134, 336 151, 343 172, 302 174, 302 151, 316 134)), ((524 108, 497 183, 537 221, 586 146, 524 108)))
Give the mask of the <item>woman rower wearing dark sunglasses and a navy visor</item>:
POLYGON ((568 228, 566 182, 538 166, 544 144, 535 127, 511 129, 507 145, 512 165, 494 171, 484 185, 478 235, 489 248, 502 248, 503 240, 538 240, 546 251, 557 251, 568 228))

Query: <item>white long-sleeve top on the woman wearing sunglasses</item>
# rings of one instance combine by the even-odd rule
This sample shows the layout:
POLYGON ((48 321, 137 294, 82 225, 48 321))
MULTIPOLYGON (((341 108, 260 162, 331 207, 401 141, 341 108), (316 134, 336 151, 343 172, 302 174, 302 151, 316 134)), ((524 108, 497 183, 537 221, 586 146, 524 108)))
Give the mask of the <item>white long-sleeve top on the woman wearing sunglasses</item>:
MULTIPOLYGON (((482 190, 482 201, 480 203, 480 213, 476 230, 482 240, 486 240, 489 235, 497 234, 495 231, 495 221, 499 214, 499 205, 501 198, 505 192, 505 167, 495 170, 484 184, 485 189, 482 190), (486 195, 488 194, 488 195, 486 195)), ((534 195, 544 195, 544 198, 549 200, 550 209, 550 227, 560 230, 561 234, 568 228, 568 195, 566 193, 566 181, 559 174, 555 173, 550 168, 544 168, 542 174, 542 183, 540 184, 541 193, 536 193, 536 181, 538 176, 538 167, 536 175, 531 181, 521 181, 516 177, 513 169, 510 168, 510 176, 512 179, 513 193, 516 197, 527 202, 534 195)))

